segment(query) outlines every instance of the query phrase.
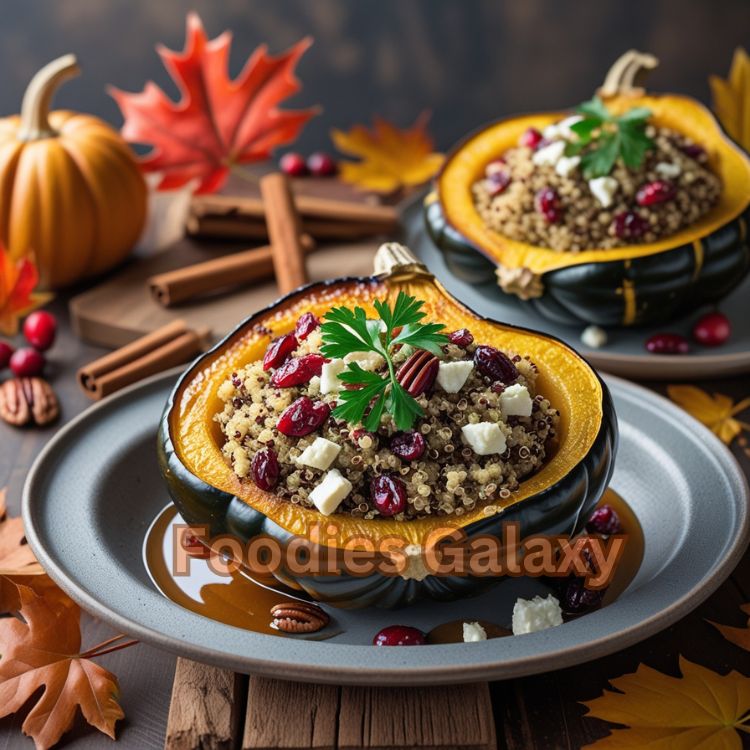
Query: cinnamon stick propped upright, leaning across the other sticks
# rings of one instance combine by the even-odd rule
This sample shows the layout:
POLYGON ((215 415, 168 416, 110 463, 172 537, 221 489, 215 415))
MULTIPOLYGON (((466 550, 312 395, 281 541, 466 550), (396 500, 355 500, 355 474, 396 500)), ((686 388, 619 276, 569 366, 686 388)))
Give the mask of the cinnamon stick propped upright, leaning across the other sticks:
POLYGON ((308 282, 305 253, 300 242, 300 219, 292 196, 289 178, 280 172, 260 180, 260 192, 271 240, 276 283, 287 294, 308 282))

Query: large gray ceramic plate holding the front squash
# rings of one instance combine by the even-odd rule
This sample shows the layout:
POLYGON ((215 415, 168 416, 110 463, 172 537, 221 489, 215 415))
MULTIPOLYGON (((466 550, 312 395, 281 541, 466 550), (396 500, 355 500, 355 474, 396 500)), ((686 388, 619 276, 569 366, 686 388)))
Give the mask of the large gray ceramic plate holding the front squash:
POLYGON ((221 625, 161 596, 141 558, 168 501, 155 435, 176 379, 166 373, 89 409, 38 458, 24 491, 28 540, 81 606, 165 649, 238 671, 313 682, 435 684, 543 672, 617 651, 697 606, 731 572, 748 540, 748 489, 729 451, 663 398, 607 378, 620 420, 613 487, 645 533, 645 556, 613 604, 558 628, 479 643, 374 648, 381 627, 429 629, 453 619, 510 619, 516 580, 476 599, 398 612, 337 612, 325 642, 221 625))

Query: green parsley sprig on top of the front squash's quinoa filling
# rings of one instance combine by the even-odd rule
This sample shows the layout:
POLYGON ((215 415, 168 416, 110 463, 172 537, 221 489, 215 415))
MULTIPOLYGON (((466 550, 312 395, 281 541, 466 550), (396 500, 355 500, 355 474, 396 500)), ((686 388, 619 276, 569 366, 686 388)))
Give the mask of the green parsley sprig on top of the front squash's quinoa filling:
POLYGON ((323 318, 320 351, 325 357, 343 358, 352 352, 375 352, 385 359, 388 367, 388 372, 381 375, 350 362, 339 380, 356 387, 340 391, 333 415, 350 424, 362 424, 366 430, 374 432, 386 411, 393 417, 397 429, 408 430, 423 412, 396 380, 394 347, 426 349, 439 356, 448 337, 440 333, 443 330, 440 323, 421 322, 426 315, 422 311, 424 302, 405 292, 398 293, 393 307, 384 300, 377 300, 373 305, 379 320, 368 319, 361 307, 353 310, 334 307, 323 318))

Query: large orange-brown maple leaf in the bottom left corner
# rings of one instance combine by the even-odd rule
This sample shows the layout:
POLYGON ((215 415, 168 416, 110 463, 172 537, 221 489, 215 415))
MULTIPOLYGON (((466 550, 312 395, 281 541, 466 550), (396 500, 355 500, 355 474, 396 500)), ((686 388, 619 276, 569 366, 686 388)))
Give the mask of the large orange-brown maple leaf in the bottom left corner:
POLYGON ((54 606, 27 586, 18 586, 18 594, 23 620, 0 620, 0 718, 33 701, 23 731, 37 750, 59 741, 78 708, 114 739, 115 723, 124 717, 117 678, 87 658, 104 653, 98 647, 79 653, 78 609, 54 606))

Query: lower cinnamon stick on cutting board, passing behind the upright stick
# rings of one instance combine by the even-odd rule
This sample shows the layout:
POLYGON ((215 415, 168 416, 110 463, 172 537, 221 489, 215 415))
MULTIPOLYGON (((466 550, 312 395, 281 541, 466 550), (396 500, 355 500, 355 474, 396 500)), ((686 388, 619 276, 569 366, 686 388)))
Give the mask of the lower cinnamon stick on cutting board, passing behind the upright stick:
MULTIPOLYGON (((306 253, 315 248, 307 234, 300 244, 306 253)), ((146 283, 154 299, 169 307, 208 292, 273 278, 273 268, 272 251, 266 245, 156 274, 146 283)))

